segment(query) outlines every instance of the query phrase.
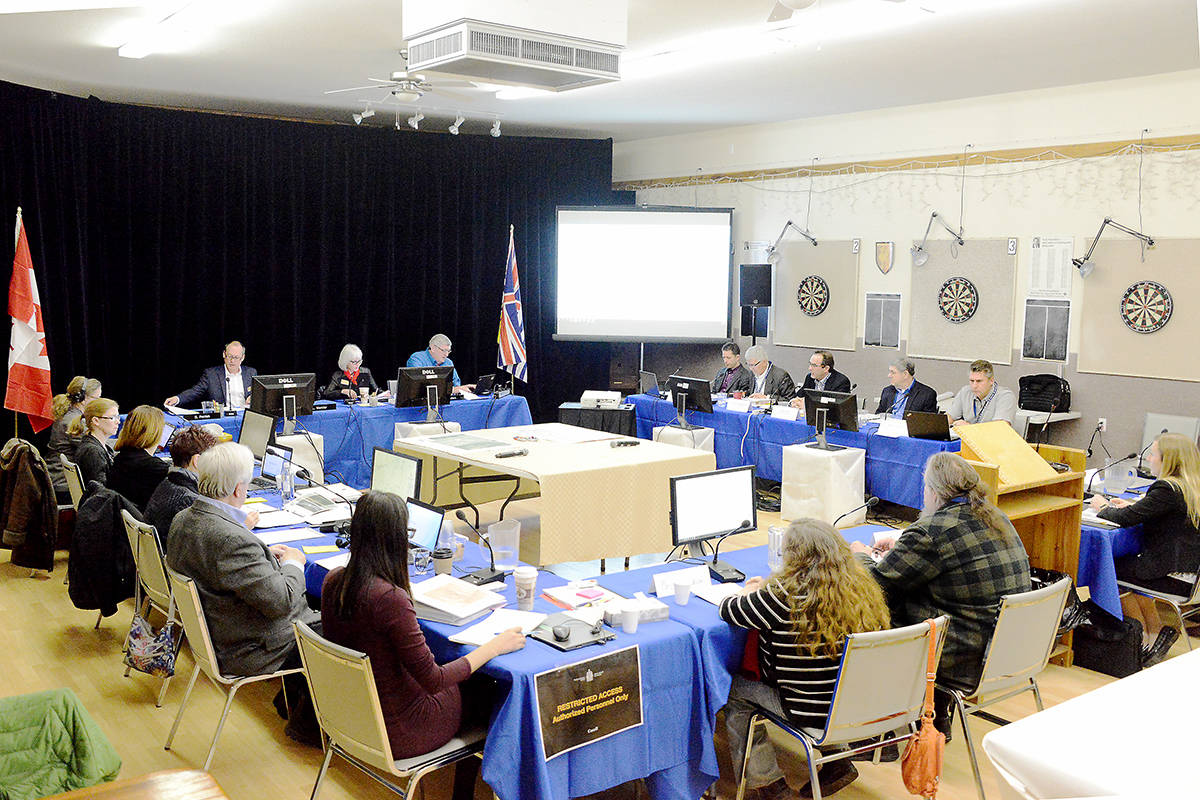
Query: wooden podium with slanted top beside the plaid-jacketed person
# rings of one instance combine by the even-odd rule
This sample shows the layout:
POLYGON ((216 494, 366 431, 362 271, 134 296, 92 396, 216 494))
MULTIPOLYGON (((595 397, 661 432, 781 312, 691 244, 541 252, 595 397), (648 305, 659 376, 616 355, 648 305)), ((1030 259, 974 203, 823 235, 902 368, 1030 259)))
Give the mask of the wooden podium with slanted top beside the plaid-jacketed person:
MULTIPOLYGON (((1073 447, 1033 445, 1003 421, 958 428, 962 457, 979 473, 988 499, 1013 522, 1030 565, 1079 578, 1080 517, 1084 512, 1086 455, 1073 447), (1057 473, 1051 462, 1067 464, 1057 473)), ((1070 666, 1072 634, 1055 660, 1070 666)))

